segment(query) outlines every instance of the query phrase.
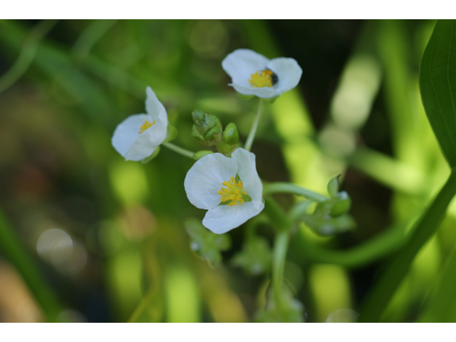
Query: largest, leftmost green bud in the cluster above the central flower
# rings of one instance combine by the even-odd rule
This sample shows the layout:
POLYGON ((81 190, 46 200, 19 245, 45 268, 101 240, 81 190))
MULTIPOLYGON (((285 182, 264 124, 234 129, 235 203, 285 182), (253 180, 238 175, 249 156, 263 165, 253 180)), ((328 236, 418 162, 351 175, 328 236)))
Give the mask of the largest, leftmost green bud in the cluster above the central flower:
POLYGON ((203 145, 212 146, 222 141, 222 123, 217 116, 195 109, 192 112, 195 125, 192 128, 192 137, 203 145))

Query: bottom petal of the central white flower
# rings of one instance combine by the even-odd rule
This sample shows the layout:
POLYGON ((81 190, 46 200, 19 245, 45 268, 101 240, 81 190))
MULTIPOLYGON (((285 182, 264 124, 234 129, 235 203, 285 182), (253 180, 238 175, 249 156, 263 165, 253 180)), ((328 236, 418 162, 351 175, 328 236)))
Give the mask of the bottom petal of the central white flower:
POLYGON ((248 219, 257 216, 263 208, 264 204, 262 202, 259 208, 256 208, 253 202, 244 202, 233 205, 232 207, 229 207, 229 205, 219 205, 206 213, 202 224, 215 234, 223 234, 239 227, 248 219))

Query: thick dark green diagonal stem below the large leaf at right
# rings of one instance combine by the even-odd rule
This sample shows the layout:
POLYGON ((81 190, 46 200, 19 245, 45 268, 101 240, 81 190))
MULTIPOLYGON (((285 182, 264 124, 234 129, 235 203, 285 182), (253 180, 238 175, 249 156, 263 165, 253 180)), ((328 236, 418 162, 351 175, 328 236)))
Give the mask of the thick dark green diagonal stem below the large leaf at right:
POLYGON ((450 177, 435 197, 423 217, 415 224, 412 236, 401 250, 393 264, 380 276, 368 294, 358 321, 379 321, 381 314, 388 305, 396 289, 410 269, 416 254, 437 231, 450 201, 456 194, 456 172, 452 170, 450 177))

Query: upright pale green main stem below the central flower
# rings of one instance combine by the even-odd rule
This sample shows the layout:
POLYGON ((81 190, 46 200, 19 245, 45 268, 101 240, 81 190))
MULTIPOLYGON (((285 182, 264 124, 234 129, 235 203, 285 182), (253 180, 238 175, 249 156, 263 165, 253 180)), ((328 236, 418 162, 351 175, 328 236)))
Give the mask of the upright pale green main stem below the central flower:
POLYGON ((288 249, 289 231, 283 230, 276 235, 274 250, 272 252, 272 289, 277 307, 281 308, 282 282, 284 281, 284 269, 286 250, 288 249))

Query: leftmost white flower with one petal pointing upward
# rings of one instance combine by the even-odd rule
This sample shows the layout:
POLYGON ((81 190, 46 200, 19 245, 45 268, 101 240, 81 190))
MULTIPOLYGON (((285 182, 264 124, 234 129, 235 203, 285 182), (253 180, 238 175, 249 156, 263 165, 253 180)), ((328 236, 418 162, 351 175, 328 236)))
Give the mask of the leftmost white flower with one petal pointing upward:
POLYGON ((165 140, 168 117, 150 87, 145 90, 147 114, 130 115, 115 128, 111 143, 125 160, 143 160, 165 140))

